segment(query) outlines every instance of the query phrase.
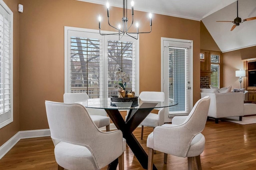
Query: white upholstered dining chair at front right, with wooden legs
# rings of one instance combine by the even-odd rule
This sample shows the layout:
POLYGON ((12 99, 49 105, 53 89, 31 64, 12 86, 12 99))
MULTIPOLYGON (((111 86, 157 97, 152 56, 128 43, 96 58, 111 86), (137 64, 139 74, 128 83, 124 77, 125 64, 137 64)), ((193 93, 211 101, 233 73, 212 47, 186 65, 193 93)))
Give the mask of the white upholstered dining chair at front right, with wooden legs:
POLYGON ((196 159, 199 170, 202 169, 200 154, 204 151, 205 138, 202 131, 205 127, 208 109, 210 106, 209 96, 198 100, 188 116, 176 116, 172 124, 164 124, 154 129, 147 139, 148 170, 153 166, 153 150, 164 152, 164 162, 167 154, 188 157, 188 169, 192 169, 192 161, 196 159))

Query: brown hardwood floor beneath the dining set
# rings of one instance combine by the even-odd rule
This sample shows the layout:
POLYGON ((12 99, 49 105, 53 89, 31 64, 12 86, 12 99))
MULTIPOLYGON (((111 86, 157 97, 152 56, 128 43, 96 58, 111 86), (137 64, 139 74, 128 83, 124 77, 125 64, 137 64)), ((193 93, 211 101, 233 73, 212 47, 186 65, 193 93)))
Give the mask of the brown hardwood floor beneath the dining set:
MULTIPOLYGON (((144 127, 143 140, 140 140, 140 130, 137 128, 134 135, 148 152, 146 139, 153 128, 144 127)), ((206 138, 201 154, 203 170, 256 169, 256 124, 238 125, 226 121, 215 124, 210 119, 202 133, 206 138)), ((158 170, 187 170, 188 166, 187 158, 172 155, 168 155, 167 164, 164 164, 161 152, 154 154, 154 164, 158 170)), ((143 170, 129 147, 124 152, 124 169, 143 170)), ((20 140, 0 160, 0 170, 57 170, 52 140, 50 137, 20 140)))

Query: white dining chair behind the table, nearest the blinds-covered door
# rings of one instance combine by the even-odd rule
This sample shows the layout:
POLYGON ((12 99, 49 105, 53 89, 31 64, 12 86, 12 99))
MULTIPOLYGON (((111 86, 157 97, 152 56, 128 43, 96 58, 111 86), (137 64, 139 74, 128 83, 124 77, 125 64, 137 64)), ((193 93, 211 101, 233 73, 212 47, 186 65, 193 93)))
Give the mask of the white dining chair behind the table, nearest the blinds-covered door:
MULTIPOLYGON (((142 102, 164 102, 164 92, 141 92, 139 98, 142 102)), ((143 139, 144 126, 157 127, 164 124, 164 108, 156 108, 158 114, 149 113, 149 115, 140 123, 141 139, 143 139)))

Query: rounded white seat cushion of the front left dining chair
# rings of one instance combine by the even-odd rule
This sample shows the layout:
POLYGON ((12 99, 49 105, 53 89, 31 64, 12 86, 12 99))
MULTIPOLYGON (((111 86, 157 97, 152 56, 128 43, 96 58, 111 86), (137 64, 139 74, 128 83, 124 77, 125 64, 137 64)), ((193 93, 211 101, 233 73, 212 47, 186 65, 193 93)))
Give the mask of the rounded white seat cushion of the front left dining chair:
POLYGON ((66 142, 58 143, 54 148, 56 162, 69 170, 96 170, 89 149, 66 142))

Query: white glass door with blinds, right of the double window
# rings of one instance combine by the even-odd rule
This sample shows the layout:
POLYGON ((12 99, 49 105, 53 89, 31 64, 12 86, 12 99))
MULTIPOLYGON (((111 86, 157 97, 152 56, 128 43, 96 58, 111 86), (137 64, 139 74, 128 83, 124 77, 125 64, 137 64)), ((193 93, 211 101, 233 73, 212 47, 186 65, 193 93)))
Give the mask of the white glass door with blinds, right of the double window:
POLYGON ((165 109, 165 122, 175 115, 187 115, 192 106, 192 41, 162 38, 162 91, 165 102, 176 106, 165 109))

